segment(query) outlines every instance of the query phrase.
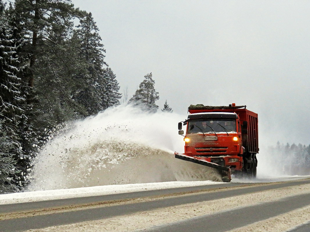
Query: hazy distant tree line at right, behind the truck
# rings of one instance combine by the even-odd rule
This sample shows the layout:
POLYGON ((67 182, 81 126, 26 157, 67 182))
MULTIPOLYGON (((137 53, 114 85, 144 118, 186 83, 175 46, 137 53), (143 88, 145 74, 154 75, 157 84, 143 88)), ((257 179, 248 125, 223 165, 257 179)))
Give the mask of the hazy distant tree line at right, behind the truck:
POLYGON ((310 145, 280 144, 268 150, 273 167, 285 175, 310 175, 310 145))

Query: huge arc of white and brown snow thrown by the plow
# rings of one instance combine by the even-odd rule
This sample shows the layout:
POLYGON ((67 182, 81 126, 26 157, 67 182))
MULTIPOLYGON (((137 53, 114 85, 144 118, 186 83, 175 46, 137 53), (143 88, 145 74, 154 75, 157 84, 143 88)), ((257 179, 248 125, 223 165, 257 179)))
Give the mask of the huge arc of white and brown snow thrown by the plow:
POLYGON ((68 125, 33 164, 29 191, 164 181, 221 181, 211 168, 182 161, 177 123, 186 115, 119 105, 68 125))

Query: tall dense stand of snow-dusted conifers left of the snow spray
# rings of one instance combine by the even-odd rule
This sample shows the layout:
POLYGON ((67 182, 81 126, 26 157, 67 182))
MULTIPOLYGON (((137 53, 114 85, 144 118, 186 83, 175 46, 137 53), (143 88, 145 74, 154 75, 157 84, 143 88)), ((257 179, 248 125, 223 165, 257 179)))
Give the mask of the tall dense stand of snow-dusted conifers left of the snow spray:
POLYGON ((0 0, 0 193, 27 183, 61 123, 120 103, 98 31, 69 0, 0 0))

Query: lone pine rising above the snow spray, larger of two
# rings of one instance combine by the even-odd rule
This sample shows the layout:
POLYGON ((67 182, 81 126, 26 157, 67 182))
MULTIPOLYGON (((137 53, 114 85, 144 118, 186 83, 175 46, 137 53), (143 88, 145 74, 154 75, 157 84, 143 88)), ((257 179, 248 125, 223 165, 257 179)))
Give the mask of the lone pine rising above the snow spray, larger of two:
POLYGON ((139 84, 135 94, 129 99, 129 102, 136 101, 144 103, 151 111, 157 111, 158 105, 155 102, 159 99, 158 92, 155 90, 155 81, 152 79, 152 73, 144 76, 144 80, 139 84))

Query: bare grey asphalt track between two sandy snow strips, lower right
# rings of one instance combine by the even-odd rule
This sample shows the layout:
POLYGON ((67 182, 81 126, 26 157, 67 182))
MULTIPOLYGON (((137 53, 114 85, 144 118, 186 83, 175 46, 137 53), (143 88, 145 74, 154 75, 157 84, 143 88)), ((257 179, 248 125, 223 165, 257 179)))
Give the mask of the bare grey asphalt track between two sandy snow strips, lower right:
MULTIPOLYGON (((285 200, 259 204, 245 208, 238 208, 223 213, 194 217, 193 219, 178 221, 163 226, 155 226, 146 231, 166 232, 214 232, 227 231, 241 226, 246 226, 256 221, 262 221, 291 210, 310 204, 310 193, 288 197, 285 200)), ((310 228, 308 228, 309 231, 310 228)))

